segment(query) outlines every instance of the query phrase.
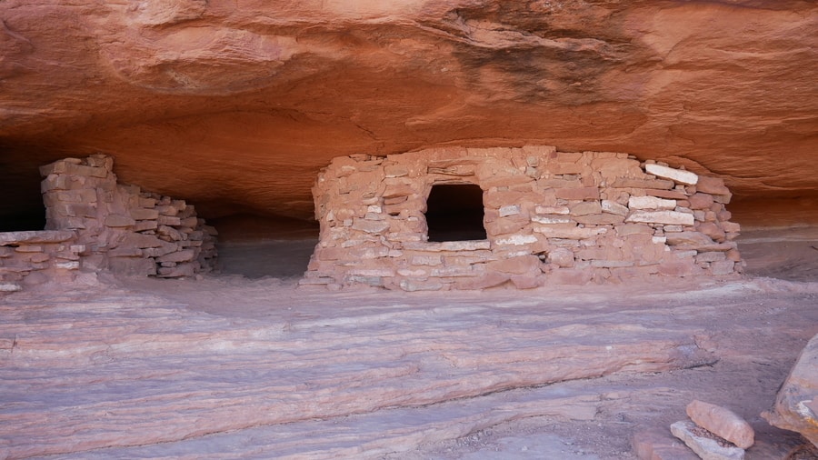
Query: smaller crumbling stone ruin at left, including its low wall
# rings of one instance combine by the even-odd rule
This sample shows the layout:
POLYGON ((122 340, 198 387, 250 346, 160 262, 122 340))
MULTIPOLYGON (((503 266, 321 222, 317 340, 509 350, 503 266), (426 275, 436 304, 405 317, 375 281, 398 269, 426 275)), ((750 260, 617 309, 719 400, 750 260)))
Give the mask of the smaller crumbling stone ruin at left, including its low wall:
POLYGON ((160 277, 212 269, 215 230, 195 207, 117 184, 113 166, 91 155, 40 168, 45 231, 0 233, 0 291, 71 280, 80 268, 160 277))

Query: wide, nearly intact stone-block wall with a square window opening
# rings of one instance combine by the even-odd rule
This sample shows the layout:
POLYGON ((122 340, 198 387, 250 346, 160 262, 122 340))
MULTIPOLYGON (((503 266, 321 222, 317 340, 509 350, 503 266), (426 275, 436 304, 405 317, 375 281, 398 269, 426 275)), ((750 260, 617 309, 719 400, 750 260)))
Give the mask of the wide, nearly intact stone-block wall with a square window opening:
POLYGON ((302 285, 532 288, 742 270, 723 181, 627 154, 540 145, 351 155, 335 158, 313 193, 321 235, 302 285), (433 225, 432 196, 446 194, 433 225))

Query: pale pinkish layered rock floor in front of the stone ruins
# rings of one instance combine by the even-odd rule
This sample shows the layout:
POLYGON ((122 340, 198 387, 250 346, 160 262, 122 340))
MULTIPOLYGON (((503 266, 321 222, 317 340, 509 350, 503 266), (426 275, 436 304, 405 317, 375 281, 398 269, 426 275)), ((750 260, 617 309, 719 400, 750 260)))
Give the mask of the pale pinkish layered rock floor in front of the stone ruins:
POLYGON ((0 458, 628 459, 694 398, 784 458, 760 413, 818 334, 815 235, 745 234, 729 283, 328 294, 294 288, 310 242, 267 241, 7 295, 0 458))

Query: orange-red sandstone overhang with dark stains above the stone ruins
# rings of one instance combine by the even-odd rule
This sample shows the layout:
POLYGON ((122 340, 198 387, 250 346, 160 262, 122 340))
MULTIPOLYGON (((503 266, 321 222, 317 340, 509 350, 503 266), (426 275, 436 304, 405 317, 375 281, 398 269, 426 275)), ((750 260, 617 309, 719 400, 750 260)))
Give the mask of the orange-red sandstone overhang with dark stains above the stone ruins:
POLYGON ((0 4, 0 215, 95 152, 200 204, 307 218, 338 155, 547 143, 814 195, 812 1, 0 4), (700 169, 701 168, 701 169, 700 169))

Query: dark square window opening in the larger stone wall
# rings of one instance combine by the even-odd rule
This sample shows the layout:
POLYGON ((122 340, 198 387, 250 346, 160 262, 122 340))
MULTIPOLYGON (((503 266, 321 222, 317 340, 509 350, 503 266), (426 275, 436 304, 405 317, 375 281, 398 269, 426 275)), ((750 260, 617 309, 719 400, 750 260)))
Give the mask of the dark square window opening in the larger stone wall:
POLYGON ((484 240, 483 189, 479 185, 433 185, 426 200, 429 241, 484 240))

